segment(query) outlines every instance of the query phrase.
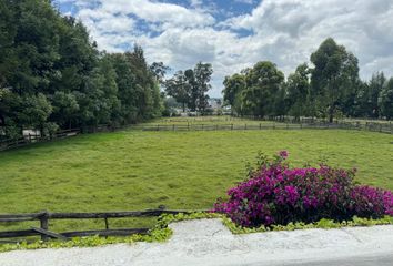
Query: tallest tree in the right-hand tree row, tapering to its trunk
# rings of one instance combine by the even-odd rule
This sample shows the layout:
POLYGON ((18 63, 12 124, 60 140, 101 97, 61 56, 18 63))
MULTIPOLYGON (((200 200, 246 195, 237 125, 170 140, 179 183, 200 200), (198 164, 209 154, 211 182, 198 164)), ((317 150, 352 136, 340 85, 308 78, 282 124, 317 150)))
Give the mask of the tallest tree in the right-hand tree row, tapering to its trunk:
POLYGON ((322 42, 311 54, 314 64, 311 71, 312 94, 333 122, 336 109, 345 102, 359 80, 357 59, 332 38, 322 42))

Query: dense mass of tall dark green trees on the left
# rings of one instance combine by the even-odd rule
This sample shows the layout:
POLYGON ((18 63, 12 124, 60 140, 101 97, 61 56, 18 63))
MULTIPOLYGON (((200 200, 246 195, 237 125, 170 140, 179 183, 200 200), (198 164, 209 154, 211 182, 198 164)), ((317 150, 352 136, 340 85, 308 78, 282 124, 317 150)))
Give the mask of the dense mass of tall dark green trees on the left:
POLYGON ((164 71, 140 47, 99 52, 84 25, 49 0, 0 1, 0 135, 155 117, 164 71))

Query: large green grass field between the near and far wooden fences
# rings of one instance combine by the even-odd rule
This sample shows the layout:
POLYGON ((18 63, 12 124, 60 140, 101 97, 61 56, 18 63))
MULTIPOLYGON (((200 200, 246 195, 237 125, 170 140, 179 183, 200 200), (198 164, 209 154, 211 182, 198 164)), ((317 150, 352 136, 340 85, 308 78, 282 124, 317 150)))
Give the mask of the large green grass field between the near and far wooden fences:
MULTIPOLYGON (((393 135, 340 130, 121 131, 0 153, 0 213, 211 208, 245 177, 259 151, 301 166, 357 167, 356 181, 393 190, 393 135)), ((124 227, 134 221, 115 221, 124 227)), ((151 221, 140 222, 141 225, 151 221)), ((112 225, 112 224, 111 224, 112 225)), ((9 224, 9 228, 21 225, 9 224)), ((23 225, 26 226, 26 225, 23 225)), ((103 221, 51 222, 56 231, 103 221)), ((1 227, 0 227, 1 228, 1 227)))

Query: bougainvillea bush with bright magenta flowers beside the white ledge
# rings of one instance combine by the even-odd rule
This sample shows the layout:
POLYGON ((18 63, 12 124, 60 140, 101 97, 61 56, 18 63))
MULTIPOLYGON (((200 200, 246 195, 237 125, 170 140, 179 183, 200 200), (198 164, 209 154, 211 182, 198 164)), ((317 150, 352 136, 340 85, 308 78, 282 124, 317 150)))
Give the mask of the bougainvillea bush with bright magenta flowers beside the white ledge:
POLYGON ((274 160, 261 156, 246 181, 228 191, 229 200, 218 200, 214 212, 245 227, 393 216, 393 193, 354 184, 355 170, 293 168, 286 157, 286 151, 274 160))

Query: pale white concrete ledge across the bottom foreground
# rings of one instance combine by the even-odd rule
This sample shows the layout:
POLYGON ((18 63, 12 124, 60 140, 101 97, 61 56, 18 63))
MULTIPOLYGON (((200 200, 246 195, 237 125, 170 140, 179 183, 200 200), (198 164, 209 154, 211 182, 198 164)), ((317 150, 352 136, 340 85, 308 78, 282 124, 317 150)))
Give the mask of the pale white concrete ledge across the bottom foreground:
POLYGON ((170 225, 168 243, 0 254, 1 266, 393 265, 393 225, 232 235, 220 219, 170 225))

